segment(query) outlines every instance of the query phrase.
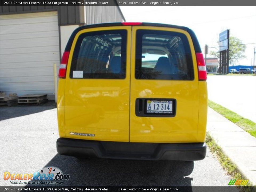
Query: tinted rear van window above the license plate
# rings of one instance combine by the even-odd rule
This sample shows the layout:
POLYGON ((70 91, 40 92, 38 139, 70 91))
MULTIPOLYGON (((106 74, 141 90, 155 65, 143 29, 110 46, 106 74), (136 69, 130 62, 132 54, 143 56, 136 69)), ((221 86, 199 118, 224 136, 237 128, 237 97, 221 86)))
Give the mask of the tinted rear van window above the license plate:
POLYGON ((137 79, 193 80, 193 61, 185 34, 137 30, 137 79))

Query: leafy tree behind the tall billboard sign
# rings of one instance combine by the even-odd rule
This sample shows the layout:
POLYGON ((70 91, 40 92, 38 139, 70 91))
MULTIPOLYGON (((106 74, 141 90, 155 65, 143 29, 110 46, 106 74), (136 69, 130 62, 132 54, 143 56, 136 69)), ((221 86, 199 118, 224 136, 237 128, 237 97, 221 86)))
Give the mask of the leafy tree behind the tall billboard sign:
MULTIPOLYGON (((218 41, 219 44, 219 41, 218 41)), ((237 59, 243 59, 246 56, 244 55, 246 45, 241 45, 242 41, 237 37, 229 37, 229 63, 234 65, 234 61, 237 59)), ((211 55, 219 58, 218 51, 210 51, 211 55)))

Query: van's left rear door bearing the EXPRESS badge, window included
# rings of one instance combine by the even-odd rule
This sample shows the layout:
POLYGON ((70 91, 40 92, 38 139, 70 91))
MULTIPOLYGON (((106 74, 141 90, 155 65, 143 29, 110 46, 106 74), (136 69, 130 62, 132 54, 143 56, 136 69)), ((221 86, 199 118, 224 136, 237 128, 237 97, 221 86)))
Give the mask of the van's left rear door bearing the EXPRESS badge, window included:
POLYGON ((131 26, 77 33, 65 82, 69 138, 129 141, 131 26))

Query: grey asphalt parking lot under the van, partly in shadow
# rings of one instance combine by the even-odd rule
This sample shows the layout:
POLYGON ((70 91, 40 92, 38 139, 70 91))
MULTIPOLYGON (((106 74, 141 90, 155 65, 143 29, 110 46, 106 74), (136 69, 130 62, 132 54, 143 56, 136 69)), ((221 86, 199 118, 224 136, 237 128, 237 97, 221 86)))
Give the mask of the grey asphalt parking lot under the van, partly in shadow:
MULTIPOLYGON (((1 174, 34 173, 54 166, 63 174, 70 174, 63 186, 227 186, 231 179, 209 149, 205 159, 194 162, 79 159, 59 155, 54 106, 0 107, 0 120, 1 174)), ((13 185, 10 179, 0 177, 0 186, 26 184, 13 185)))

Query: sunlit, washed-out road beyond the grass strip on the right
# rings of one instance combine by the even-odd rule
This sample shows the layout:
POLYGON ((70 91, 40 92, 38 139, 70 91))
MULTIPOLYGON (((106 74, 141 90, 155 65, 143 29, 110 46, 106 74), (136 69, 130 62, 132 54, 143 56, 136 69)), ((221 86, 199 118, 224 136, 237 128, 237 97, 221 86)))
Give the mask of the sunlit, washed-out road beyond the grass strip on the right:
POLYGON ((208 98, 256 122, 256 76, 208 75, 208 98))

